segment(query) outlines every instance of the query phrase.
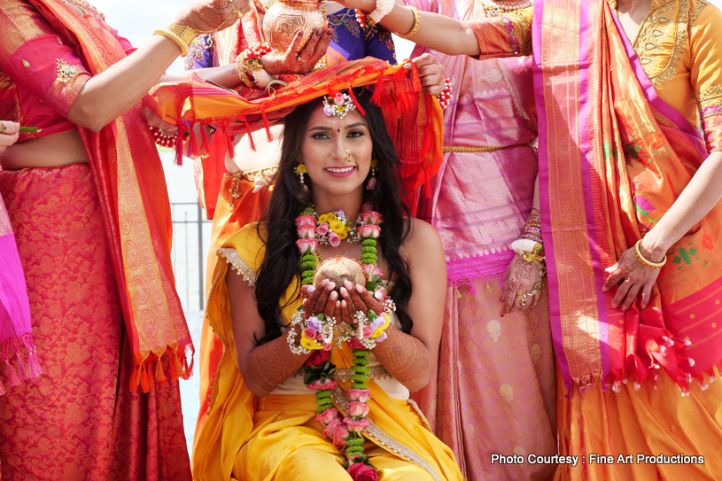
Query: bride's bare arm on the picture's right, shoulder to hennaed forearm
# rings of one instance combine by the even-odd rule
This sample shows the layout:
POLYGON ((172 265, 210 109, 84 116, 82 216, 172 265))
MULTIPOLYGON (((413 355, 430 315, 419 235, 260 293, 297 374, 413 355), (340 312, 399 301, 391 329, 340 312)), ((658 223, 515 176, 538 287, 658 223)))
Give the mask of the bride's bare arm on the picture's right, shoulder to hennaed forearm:
POLYGON ((407 312, 414 321, 410 334, 393 326, 388 338, 374 349, 378 361, 409 391, 429 384, 439 359, 441 326, 446 299, 446 259, 439 233, 424 221, 413 220, 413 230, 401 254, 408 260, 413 291, 407 312))

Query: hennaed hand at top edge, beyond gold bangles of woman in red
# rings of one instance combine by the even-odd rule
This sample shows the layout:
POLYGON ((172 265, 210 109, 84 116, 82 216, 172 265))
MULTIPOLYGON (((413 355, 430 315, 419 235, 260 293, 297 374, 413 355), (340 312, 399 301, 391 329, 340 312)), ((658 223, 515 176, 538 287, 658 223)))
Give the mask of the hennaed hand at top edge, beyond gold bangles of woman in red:
POLYGON ((192 0, 173 23, 194 28, 199 34, 228 28, 248 10, 248 0, 192 0))

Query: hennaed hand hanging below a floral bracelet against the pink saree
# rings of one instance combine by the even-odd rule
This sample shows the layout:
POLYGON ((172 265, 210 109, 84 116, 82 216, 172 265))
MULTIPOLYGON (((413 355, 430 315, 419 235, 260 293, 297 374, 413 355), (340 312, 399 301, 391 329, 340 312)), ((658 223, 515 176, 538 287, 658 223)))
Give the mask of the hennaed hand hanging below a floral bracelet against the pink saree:
POLYGON ((535 289, 537 281, 541 278, 540 273, 541 268, 535 263, 524 260, 519 254, 514 256, 514 259, 509 262, 507 275, 504 278, 504 287, 501 289, 501 299, 499 299, 504 303, 499 313, 502 317, 516 311, 528 311, 540 303, 541 289, 535 289), (537 293, 532 294, 533 291, 537 291, 537 293), (522 305, 520 298, 524 294, 527 297, 522 305))

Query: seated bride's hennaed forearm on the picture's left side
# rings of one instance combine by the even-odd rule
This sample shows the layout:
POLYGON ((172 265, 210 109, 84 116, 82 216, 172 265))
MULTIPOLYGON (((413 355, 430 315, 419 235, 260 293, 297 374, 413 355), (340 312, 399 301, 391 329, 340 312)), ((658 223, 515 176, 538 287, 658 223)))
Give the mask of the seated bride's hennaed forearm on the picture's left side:
MULTIPOLYGON (((299 339, 299 335, 296 339, 299 339)), ((248 354, 243 372, 244 382, 253 394, 262 398, 296 374, 309 355, 291 353, 286 336, 278 337, 259 345, 248 354)))

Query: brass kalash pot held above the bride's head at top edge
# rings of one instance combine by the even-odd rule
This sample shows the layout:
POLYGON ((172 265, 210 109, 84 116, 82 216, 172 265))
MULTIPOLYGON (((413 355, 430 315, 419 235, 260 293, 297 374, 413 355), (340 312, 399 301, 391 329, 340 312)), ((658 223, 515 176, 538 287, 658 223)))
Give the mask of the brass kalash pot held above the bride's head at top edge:
POLYGON ((276 0, 263 16, 263 33, 276 53, 288 50, 299 30, 303 31, 299 49, 303 49, 314 30, 327 25, 326 11, 316 0, 276 0))

